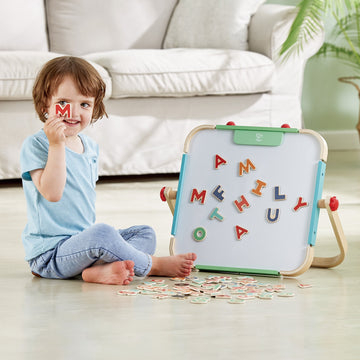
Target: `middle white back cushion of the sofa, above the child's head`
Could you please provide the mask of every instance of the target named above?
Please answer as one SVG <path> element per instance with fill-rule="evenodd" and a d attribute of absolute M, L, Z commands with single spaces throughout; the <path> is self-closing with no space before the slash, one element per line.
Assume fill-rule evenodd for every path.
<path fill-rule="evenodd" d="M 160 49 L 176 0 L 46 0 L 50 50 Z"/>

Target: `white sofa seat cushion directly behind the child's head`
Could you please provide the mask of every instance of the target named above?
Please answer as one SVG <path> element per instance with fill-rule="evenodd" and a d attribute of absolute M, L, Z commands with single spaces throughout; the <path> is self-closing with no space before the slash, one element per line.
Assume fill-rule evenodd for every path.
<path fill-rule="evenodd" d="M 61 56 L 50 52 L 3 51 L 0 53 L 0 100 L 30 100 L 35 78 L 49 60 Z M 111 93 L 111 79 L 101 66 L 92 63 Z"/>

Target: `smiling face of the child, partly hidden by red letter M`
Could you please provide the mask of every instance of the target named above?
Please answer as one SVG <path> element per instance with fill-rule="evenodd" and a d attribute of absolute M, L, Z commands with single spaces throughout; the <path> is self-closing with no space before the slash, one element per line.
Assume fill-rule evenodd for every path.
<path fill-rule="evenodd" d="M 73 79 L 66 76 L 60 83 L 57 91 L 50 98 L 48 107 L 49 117 L 55 114 L 56 104 L 64 107 L 66 104 L 71 106 L 70 118 L 63 120 L 66 125 L 65 136 L 73 137 L 84 130 L 91 122 L 94 110 L 94 97 L 82 95 Z"/>

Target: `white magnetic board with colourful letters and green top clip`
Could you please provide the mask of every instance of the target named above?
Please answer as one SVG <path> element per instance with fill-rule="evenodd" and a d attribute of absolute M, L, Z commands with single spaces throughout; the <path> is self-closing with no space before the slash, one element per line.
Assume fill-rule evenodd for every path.
<path fill-rule="evenodd" d="M 251 131 L 250 145 L 234 142 L 235 133 Z M 223 126 L 191 137 L 175 253 L 195 252 L 197 265 L 216 267 L 292 271 L 303 264 L 315 241 L 325 163 L 318 136 L 289 131 Z M 262 145 L 268 134 L 280 136 L 279 144 Z"/>

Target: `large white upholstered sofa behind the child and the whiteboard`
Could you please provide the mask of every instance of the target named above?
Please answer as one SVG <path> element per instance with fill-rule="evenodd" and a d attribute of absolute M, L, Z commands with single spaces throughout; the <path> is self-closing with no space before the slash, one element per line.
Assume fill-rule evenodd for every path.
<path fill-rule="evenodd" d="M 84 57 L 107 84 L 109 118 L 87 130 L 100 175 L 174 173 L 200 124 L 300 128 L 323 42 L 283 62 L 294 8 L 262 0 L 2 0 L 0 13 L 0 179 L 20 177 L 21 144 L 42 127 L 34 78 L 55 56 Z"/>

